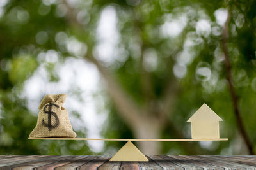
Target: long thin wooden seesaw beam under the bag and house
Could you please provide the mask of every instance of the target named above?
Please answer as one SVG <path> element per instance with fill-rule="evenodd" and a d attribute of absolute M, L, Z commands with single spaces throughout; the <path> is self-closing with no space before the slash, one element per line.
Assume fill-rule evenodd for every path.
<path fill-rule="evenodd" d="M 29 137 L 33 140 L 70 140 L 70 141 L 227 141 L 228 138 L 217 139 L 99 139 L 99 138 L 35 138 Z"/>

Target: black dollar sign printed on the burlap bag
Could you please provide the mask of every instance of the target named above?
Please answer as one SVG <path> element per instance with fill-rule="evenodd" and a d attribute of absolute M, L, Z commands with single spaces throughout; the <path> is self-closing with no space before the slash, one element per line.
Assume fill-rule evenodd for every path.
<path fill-rule="evenodd" d="M 57 114 L 54 111 L 52 111 L 52 106 L 56 106 L 57 108 L 59 108 L 59 106 L 57 104 L 54 104 L 54 103 L 46 104 L 44 106 L 44 113 L 48 114 L 48 124 L 45 123 L 44 119 L 42 120 L 42 124 L 45 127 L 48 127 L 49 131 L 51 131 L 53 128 L 58 127 L 58 125 L 59 125 L 59 118 L 57 117 Z M 46 110 L 46 108 L 48 108 L 48 111 Z M 54 125 L 52 125 L 52 116 L 55 118 L 55 124 Z"/>

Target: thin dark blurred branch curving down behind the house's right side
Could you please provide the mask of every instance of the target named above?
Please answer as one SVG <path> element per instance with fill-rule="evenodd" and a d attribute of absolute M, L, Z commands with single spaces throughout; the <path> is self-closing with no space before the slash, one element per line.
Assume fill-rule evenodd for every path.
<path fill-rule="evenodd" d="M 228 24 L 230 22 L 230 17 L 231 17 L 231 14 L 230 14 L 230 11 L 228 11 L 228 17 L 227 17 L 227 20 L 224 25 L 223 39 L 222 39 L 223 53 L 225 55 L 225 69 L 227 71 L 226 79 L 227 79 L 228 87 L 229 87 L 230 94 L 232 97 L 233 110 L 234 110 L 234 115 L 236 117 L 238 129 L 241 132 L 242 138 L 244 139 L 244 142 L 248 148 L 250 155 L 254 155 L 252 143 L 250 142 L 250 139 L 248 137 L 248 134 L 245 131 L 244 124 L 242 122 L 241 111 L 239 110 L 239 99 L 237 97 L 234 85 L 232 84 L 232 74 L 231 74 L 232 68 L 230 65 L 230 60 L 229 60 L 229 55 L 228 55 L 228 46 L 227 46 L 228 30 L 229 30 Z"/>

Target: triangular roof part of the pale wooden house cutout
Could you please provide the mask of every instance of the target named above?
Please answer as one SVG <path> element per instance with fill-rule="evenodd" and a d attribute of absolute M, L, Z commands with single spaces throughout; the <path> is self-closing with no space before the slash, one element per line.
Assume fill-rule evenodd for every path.
<path fill-rule="evenodd" d="M 222 119 L 213 111 L 207 104 L 203 104 L 187 122 L 209 120 L 209 121 L 222 121 Z"/>

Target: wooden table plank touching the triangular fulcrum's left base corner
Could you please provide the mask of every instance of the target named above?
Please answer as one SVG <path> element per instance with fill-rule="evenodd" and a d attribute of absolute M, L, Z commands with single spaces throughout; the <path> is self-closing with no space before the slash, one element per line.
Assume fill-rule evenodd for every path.
<path fill-rule="evenodd" d="M 97 159 L 93 159 L 90 162 L 86 162 L 86 164 L 84 164 L 83 166 L 77 167 L 77 169 L 80 169 L 80 170 L 97 169 L 108 160 L 109 160 L 109 157 L 100 156 Z"/>

